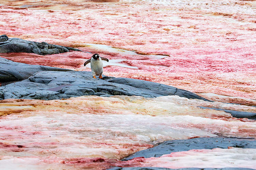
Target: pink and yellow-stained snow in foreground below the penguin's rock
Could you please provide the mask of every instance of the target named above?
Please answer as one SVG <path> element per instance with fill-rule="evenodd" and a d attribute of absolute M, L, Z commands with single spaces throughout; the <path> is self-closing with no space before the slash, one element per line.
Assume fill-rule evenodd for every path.
<path fill-rule="evenodd" d="M 135 158 L 127 162 L 120 159 L 165 140 L 215 137 L 216 134 L 256 138 L 255 121 L 233 118 L 223 111 L 201 109 L 198 105 L 240 111 L 256 109 L 178 96 L 1 100 L 0 164 L 7 166 L 13 162 L 14 169 L 23 167 L 22 162 L 32 169 L 158 167 L 167 158 Z M 196 151 L 191 152 L 194 154 Z M 198 160 L 219 154 L 209 152 L 210 155 L 199 155 Z M 248 153 L 248 160 L 241 165 L 248 163 L 245 167 L 251 167 L 254 160 L 249 157 L 255 154 L 253 149 L 235 149 L 221 154 L 223 157 L 227 154 L 228 160 L 232 160 L 233 155 L 243 155 L 244 152 Z M 197 152 L 193 154 L 191 160 L 197 159 Z M 162 167 L 180 166 L 182 159 L 175 157 L 177 162 L 167 160 Z M 217 167 L 209 163 L 209 166 Z"/>

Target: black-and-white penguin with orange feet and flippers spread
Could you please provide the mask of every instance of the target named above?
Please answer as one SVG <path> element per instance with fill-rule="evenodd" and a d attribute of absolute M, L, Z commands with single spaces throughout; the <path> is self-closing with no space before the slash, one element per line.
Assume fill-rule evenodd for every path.
<path fill-rule="evenodd" d="M 93 74 L 93 78 L 96 79 L 95 75 L 99 75 L 99 78 L 102 79 L 103 73 L 103 63 L 102 60 L 109 62 L 108 58 L 100 57 L 99 54 L 94 54 L 91 56 L 90 60 L 87 60 L 84 63 L 84 66 L 88 63 L 91 63 L 91 73 Z"/>

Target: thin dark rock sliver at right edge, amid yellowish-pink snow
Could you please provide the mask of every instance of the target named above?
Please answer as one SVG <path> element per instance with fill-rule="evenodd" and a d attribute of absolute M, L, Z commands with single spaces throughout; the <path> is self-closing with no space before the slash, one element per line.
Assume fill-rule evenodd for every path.
<path fill-rule="evenodd" d="M 200 108 L 209 108 L 209 109 L 214 109 L 217 111 L 224 111 L 226 113 L 230 113 L 233 117 L 236 118 L 248 118 L 248 119 L 253 119 L 256 120 L 256 113 L 253 112 L 240 112 L 240 111 L 232 111 L 228 109 L 221 109 L 221 108 L 213 108 L 213 107 L 203 107 L 203 106 L 198 106 Z"/>

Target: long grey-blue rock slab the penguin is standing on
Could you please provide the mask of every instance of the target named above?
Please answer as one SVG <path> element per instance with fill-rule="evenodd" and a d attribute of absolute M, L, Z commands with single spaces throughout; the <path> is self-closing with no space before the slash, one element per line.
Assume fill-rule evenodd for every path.
<path fill-rule="evenodd" d="M 28 66 L 26 65 L 26 67 Z M 41 66 L 38 67 L 41 68 Z M 42 69 L 55 68 L 42 67 Z M 53 100 L 85 95 L 103 97 L 112 95 L 136 95 L 148 98 L 178 95 L 180 97 L 207 101 L 192 92 L 159 83 L 106 76 L 103 76 L 104 80 L 101 80 L 94 79 L 91 72 L 88 71 L 68 71 L 66 69 L 63 71 L 41 71 L 33 74 L 24 81 L 2 86 L 0 87 L 0 100 L 9 98 Z M 11 72 L 11 78 L 18 77 L 19 80 L 28 76 L 26 72 L 26 75 L 20 76 L 21 73 L 19 70 L 16 70 L 16 72 L 15 70 L 11 70 Z M 8 77 L 8 81 L 11 81 L 11 78 Z"/>

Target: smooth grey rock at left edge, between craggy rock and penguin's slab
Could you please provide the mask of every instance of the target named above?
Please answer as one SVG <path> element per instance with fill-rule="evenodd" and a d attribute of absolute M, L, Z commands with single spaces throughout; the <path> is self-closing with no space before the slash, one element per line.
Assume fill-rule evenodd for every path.
<path fill-rule="evenodd" d="M 27 79 L 39 71 L 71 71 L 69 69 L 17 63 L 0 57 L 0 82 Z"/>

